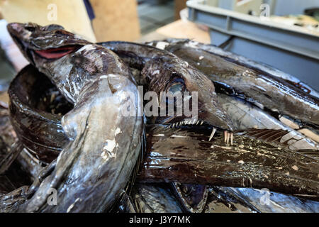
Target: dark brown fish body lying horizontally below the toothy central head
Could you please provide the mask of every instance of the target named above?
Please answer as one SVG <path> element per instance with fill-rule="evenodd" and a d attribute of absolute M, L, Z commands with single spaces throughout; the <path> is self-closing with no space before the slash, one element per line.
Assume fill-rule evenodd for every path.
<path fill-rule="evenodd" d="M 220 135 L 209 142 L 209 131 L 203 129 L 155 128 L 148 131 L 140 182 L 268 188 L 318 200 L 318 152 L 286 150 L 279 141 L 287 132 L 239 133 L 234 145 L 226 147 Z"/>

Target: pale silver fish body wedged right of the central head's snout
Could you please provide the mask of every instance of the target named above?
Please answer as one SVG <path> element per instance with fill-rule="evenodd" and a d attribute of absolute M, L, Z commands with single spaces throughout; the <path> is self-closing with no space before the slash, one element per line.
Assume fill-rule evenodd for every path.
<path fill-rule="evenodd" d="M 314 140 L 307 138 L 299 131 L 293 130 L 273 116 L 270 116 L 262 109 L 253 106 L 247 101 L 238 99 L 225 94 L 218 94 L 218 102 L 227 112 L 233 121 L 237 130 L 245 130 L 247 128 L 257 129 L 281 129 L 289 131 L 287 135 L 281 138 L 281 143 L 289 142 L 289 149 L 302 150 L 313 149 L 319 150 L 319 145 Z M 293 140 L 291 140 L 293 139 Z"/>

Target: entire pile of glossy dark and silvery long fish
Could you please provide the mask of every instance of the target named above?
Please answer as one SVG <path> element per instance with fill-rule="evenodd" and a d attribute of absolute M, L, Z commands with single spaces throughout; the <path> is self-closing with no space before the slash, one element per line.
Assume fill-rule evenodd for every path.
<path fill-rule="evenodd" d="M 319 96 L 295 77 L 192 40 L 8 30 L 30 65 L 0 106 L 1 212 L 319 211 Z M 146 117 L 138 86 L 197 92 L 196 118 Z"/>

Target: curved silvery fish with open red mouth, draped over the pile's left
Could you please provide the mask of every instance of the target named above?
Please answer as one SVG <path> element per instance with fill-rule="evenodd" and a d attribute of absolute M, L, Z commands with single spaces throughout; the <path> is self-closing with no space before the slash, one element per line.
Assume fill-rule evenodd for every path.
<path fill-rule="evenodd" d="M 70 142 L 16 210 L 109 209 L 130 181 L 142 145 L 142 100 L 130 70 L 110 50 L 60 26 L 10 23 L 8 30 L 28 60 L 74 104 L 62 118 Z M 47 203 L 52 190 L 55 206 Z"/>

